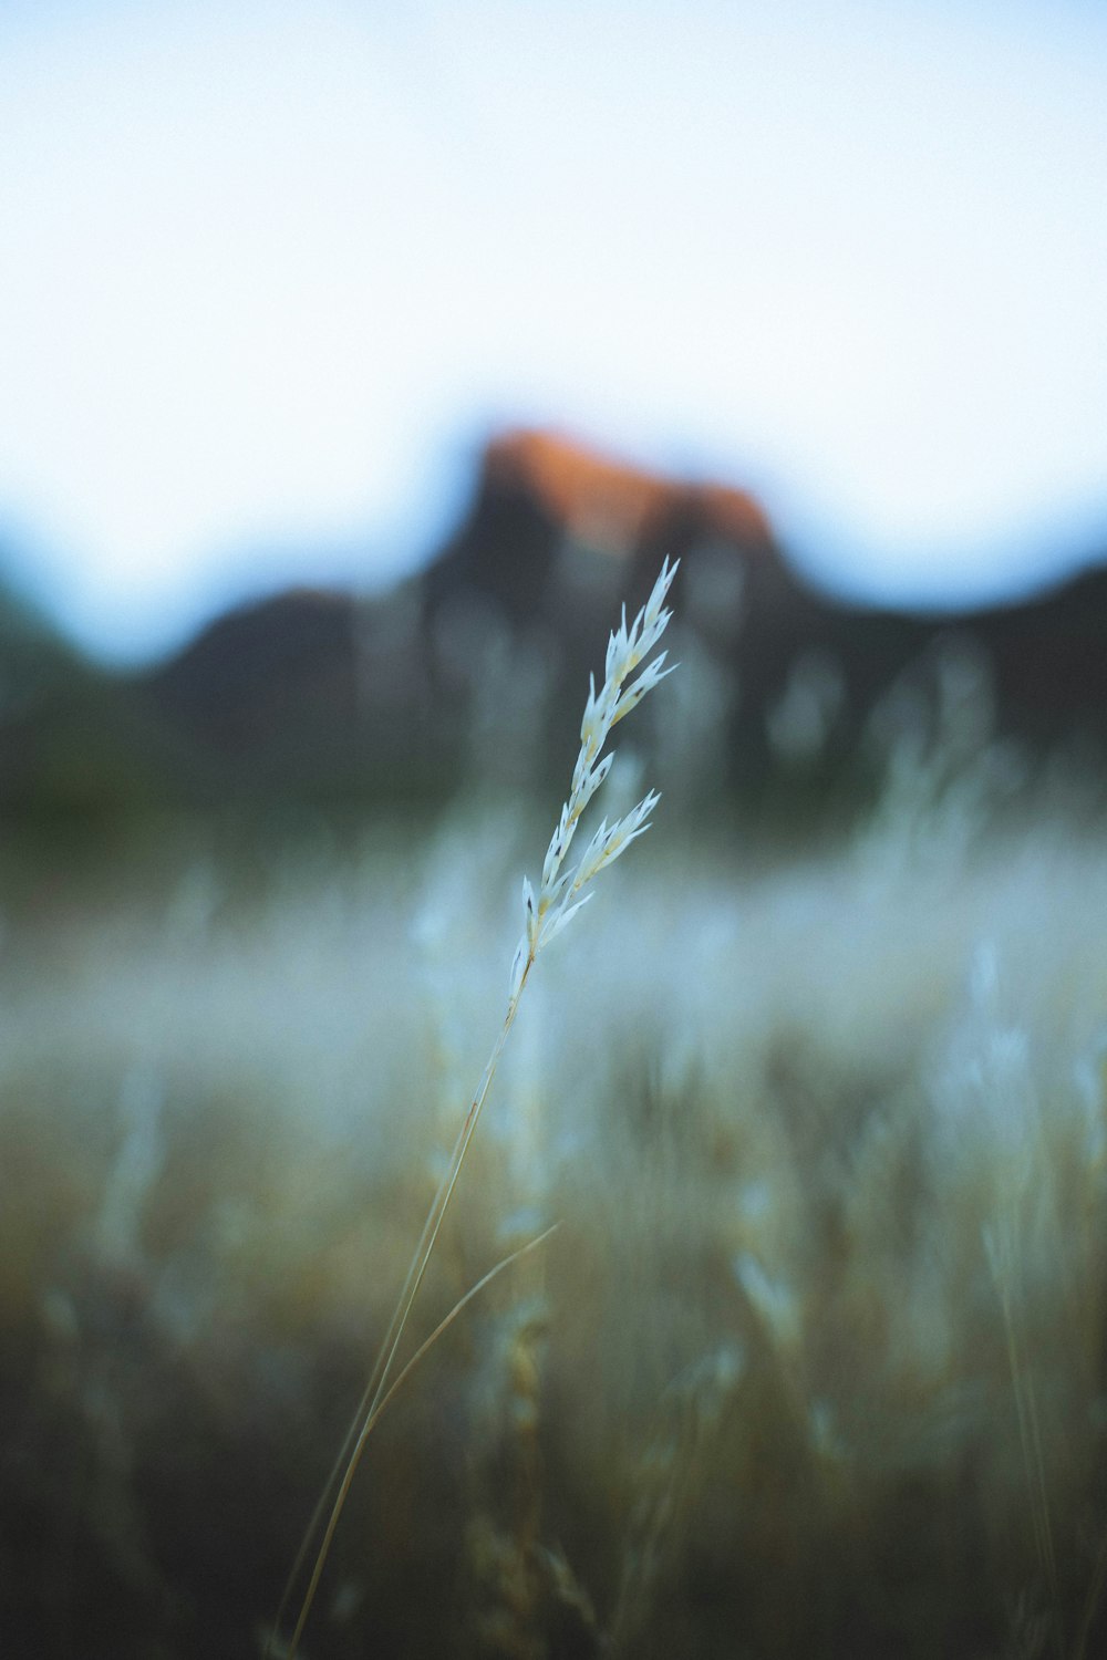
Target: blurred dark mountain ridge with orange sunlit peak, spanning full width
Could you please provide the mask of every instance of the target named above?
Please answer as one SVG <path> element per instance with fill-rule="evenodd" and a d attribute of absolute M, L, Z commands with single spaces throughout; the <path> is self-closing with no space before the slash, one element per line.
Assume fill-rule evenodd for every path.
<path fill-rule="evenodd" d="M 684 667 L 642 727 L 684 802 L 848 812 L 905 757 L 934 777 L 984 759 L 1011 790 L 1044 767 L 1107 779 L 1107 568 L 956 618 L 858 609 L 788 566 L 744 491 L 514 432 L 385 598 L 290 591 L 134 676 L 2 609 L 0 810 L 548 788 L 612 608 L 637 608 L 666 554 Z"/>

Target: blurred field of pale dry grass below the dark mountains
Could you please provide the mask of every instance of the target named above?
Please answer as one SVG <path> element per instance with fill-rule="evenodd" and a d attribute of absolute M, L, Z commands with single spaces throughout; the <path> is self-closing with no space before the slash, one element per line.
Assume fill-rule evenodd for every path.
<path fill-rule="evenodd" d="M 896 742 L 823 838 L 644 774 L 408 1350 L 558 1232 L 382 1418 L 307 1660 L 1104 1652 L 1102 823 Z M 556 805 L 8 850 L 5 1657 L 264 1652 Z"/>

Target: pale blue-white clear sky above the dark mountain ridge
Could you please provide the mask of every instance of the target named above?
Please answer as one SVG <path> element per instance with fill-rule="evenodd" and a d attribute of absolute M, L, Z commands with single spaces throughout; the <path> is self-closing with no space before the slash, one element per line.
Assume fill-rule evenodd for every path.
<path fill-rule="evenodd" d="M 0 0 L 0 559 L 138 661 L 549 423 L 818 579 L 1107 551 L 1097 0 Z"/>

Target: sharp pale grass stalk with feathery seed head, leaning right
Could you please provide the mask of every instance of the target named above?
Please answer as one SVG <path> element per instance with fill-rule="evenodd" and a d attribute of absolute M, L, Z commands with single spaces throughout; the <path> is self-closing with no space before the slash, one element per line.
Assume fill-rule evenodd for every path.
<path fill-rule="evenodd" d="M 519 999 L 523 996 L 523 989 L 526 988 L 529 973 L 538 961 L 539 953 L 553 940 L 556 940 L 569 920 L 581 910 L 583 905 L 588 903 L 588 900 L 591 900 L 591 891 L 586 893 L 584 890 L 589 888 L 599 872 L 607 865 L 612 865 L 616 858 L 626 853 L 632 842 L 649 830 L 651 815 L 661 800 L 661 795 L 656 790 L 649 790 L 622 818 L 616 818 L 611 825 L 606 818 L 601 820 L 599 828 L 594 832 L 576 865 L 571 865 L 568 870 L 564 868 L 581 815 L 611 770 L 614 752 L 609 750 L 604 754 L 604 749 L 612 727 L 617 725 L 619 720 L 626 719 L 626 715 L 629 715 L 631 710 L 641 704 L 642 697 L 664 681 L 667 674 L 672 674 L 674 666 L 666 667 L 667 652 L 662 651 L 641 669 L 637 677 L 634 677 L 636 671 L 641 664 L 644 664 L 646 657 L 649 657 L 654 646 L 659 642 L 672 616 L 672 613 L 666 609 L 666 596 L 672 584 L 672 578 L 677 573 L 679 563 L 679 559 L 675 564 L 669 564 L 669 559 L 664 561 L 649 599 L 629 626 L 626 619 L 626 606 L 622 608 L 619 627 L 612 631 L 607 641 L 604 681 L 599 692 L 596 691 L 596 677 L 589 677 L 588 702 L 581 719 L 581 747 L 576 757 L 576 765 L 573 767 L 573 782 L 569 785 L 569 795 L 561 807 L 558 827 L 549 840 L 549 847 L 546 848 L 538 893 L 534 893 L 529 876 L 523 878 L 524 928 L 511 963 L 508 1009 L 503 1026 L 500 1028 L 500 1034 L 491 1047 L 491 1054 L 488 1056 L 485 1071 L 481 1072 L 476 1092 L 470 1101 L 468 1112 L 461 1129 L 458 1130 L 458 1139 L 453 1144 L 446 1172 L 427 1213 L 427 1222 L 423 1223 L 423 1232 L 418 1245 L 415 1247 L 415 1255 L 412 1257 L 412 1265 L 392 1315 L 388 1331 L 385 1333 L 385 1341 L 380 1348 L 373 1374 L 368 1381 L 365 1394 L 362 1396 L 350 1433 L 347 1434 L 339 1461 L 324 1491 L 324 1497 L 320 1499 L 315 1516 L 307 1529 L 307 1537 L 292 1567 L 292 1574 L 289 1575 L 289 1585 L 285 1587 L 280 1609 L 277 1610 L 276 1627 L 267 1653 L 276 1653 L 279 1650 L 277 1633 L 292 1584 L 295 1582 L 307 1557 L 309 1540 L 315 1536 L 317 1526 L 322 1521 L 327 1494 L 337 1481 L 339 1491 L 332 1504 L 330 1516 L 327 1517 L 322 1544 L 312 1565 L 300 1612 L 292 1630 L 289 1647 L 287 1650 L 282 1650 L 285 1660 L 295 1660 L 299 1642 L 304 1633 L 312 1602 L 315 1600 L 319 1580 L 322 1577 L 342 1507 L 350 1491 L 354 1472 L 360 1462 L 362 1452 L 365 1451 L 368 1434 L 380 1418 L 385 1401 L 392 1398 L 392 1393 L 397 1388 L 398 1379 L 392 1379 L 397 1351 L 403 1340 L 408 1316 L 433 1255 L 435 1242 L 450 1205 L 450 1199 L 453 1197 L 453 1189 L 456 1187 L 461 1174 L 465 1154 L 468 1152 L 473 1132 L 476 1130 L 481 1107 L 485 1106 L 485 1099 L 488 1097 L 508 1034 L 514 1024 L 514 1016 L 518 1013 Z M 420 1355 L 427 1346 L 428 1345 L 423 1345 Z M 405 1373 L 407 1370 L 408 1368 L 405 1368 Z M 405 1373 L 402 1373 L 402 1376 Z"/>

